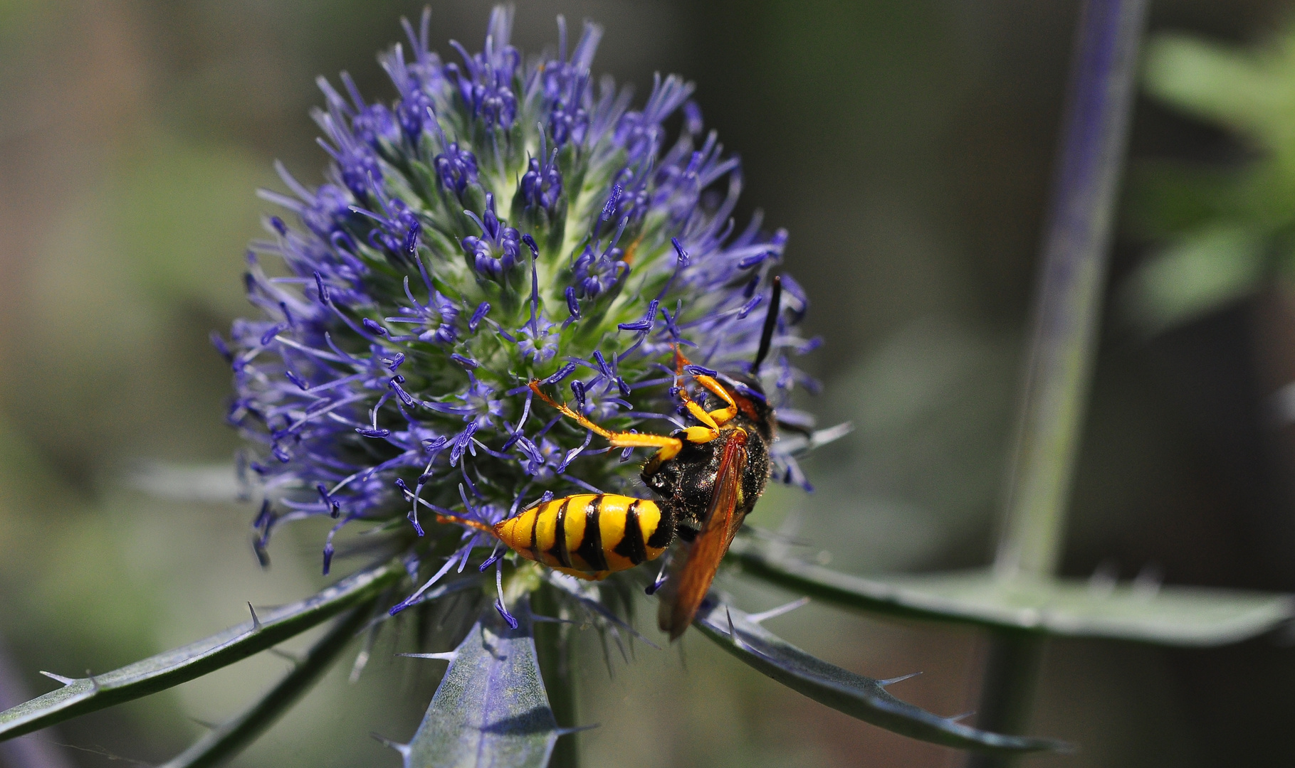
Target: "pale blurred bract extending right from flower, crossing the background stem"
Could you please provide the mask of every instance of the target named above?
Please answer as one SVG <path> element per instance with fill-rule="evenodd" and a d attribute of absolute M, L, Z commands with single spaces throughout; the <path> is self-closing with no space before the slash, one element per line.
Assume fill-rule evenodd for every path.
<path fill-rule="evenodd" d="M 1295 596 L 1279 592 L 1008 581 L 985 570 L 862 578 L 761 552 L 741 539 L 730 553 L 752 575 L 850 608 L 1062 637 L 1213 646 L 1295 618 Z"/>

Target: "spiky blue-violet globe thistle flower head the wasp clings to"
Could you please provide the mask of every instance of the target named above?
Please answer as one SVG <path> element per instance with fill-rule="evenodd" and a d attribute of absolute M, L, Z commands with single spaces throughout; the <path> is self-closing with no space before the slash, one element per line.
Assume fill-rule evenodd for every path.
<path fill-rule="evenodd" d="M 636 480 L 632 450 L 536 407 L 530 380 L 611 429 L 660 431 L 682 425 L 675 345 L 707 368 L 751 367 L 786 233 L 759 215 L 736 229 L 739 164 L 702 136 L 693 84 L 658 76 L 633 110 L 628 88 L 594 87 L 597 26 L 569 53 L 559 19 L 557 53 L 526 58 L 510 28 L 496 9 L 479 53 L 452 44 L 458 61 L 443 62 L 427 17 L 417 34 L 405 23 L 408 52 L 381 57 L 391 102 L 346 74 L 341 91 L 320 79 L 326 181 L 311 189 L 280 165 L 294 197 L 263 193 L 297 224 L 271 217 L 253 243 L 260 317 L 236 322 L 229 344 L 229 421 L 256 446 L 267 499 L 259 552 L 285 521 L 332 517 L 328 570 L 344 525 L 405 516 L 392 529 L 416 560 L 466 559 L 491 542 L 425 525 L 420 507 L 491 524 L 544 495 Z M 664 122 L 680 111 L 672 137 Z M 264 257 L 282 268 L 263 270 Z M 786 410 L 812 387 L 790 357 L 813 343 L 795 332 L 804 293 L 782 284 L 760 378 Z M 773 464 L 808 487 L 794 458 Z"/>

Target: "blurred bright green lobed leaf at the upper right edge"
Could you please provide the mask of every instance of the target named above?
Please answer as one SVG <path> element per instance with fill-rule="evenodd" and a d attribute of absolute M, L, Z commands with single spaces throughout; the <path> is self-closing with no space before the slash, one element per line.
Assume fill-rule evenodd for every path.
<path fill-rule="evenodd" d="M 1295 27 L 1251 47 L 1162 34 L 1146 52 L 1147 91 L 1238 134 L 1263 154 L 1226 169 L 1156 164 L 1134 177 L 1129 212 L 1145 234 L 1175 238 L 1123 287 L 1146 334 L 1251 293 L 1295 224 Z"/>

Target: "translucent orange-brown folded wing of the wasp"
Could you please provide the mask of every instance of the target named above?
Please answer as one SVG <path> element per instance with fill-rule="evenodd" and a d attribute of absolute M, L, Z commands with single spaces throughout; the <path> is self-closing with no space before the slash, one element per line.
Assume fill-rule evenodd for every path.
<path fill-rule="evenodd" d="M 742 469 L 746 467 L 746 432 L 734 429 L 724 443 L 720 469 L 715 476 L 715 491 L 701 533 L 693 539 L 682 568 L 671 574 L 668 591 L 663 595 L 657 621 L 662 631 L 676 640 L 693 623 L 697 609 L 715 581 L 720 560 L 728 553 L 742 520 L 737 517 L 737 503 L 742 490 Z"/>

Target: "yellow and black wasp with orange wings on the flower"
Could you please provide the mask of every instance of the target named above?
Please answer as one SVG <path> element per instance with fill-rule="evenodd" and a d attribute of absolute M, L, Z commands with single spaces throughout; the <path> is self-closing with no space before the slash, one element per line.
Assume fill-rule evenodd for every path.
<path fill-rule="evenodd" d="M 540 400 L 614 447 L 657 449 L 640 473 L 655 499 L 576 494 L 537 502 L 493 526 L 474 528 L 493 534 L 527 560 L 589 581 L 655 560 L 676 538 L 681 539 L 685 549 L 682 559 L 670 565 L 658 623 L 671 640 L 682 635 L 769 478 L 769 446 L 777 421 L 756 375 L 769 352 L 781 290 L 774 277 L 750 374 L 720 375 L 694 366 L 676 345 L 675 392 L 697 421 L 693 427 L 671 434 L 613 432 L 554 401 L 537 380 L 530 383 Z M 706 410 L 692 400 L 685 376 L 714 396 L 720 407 Z"/>

